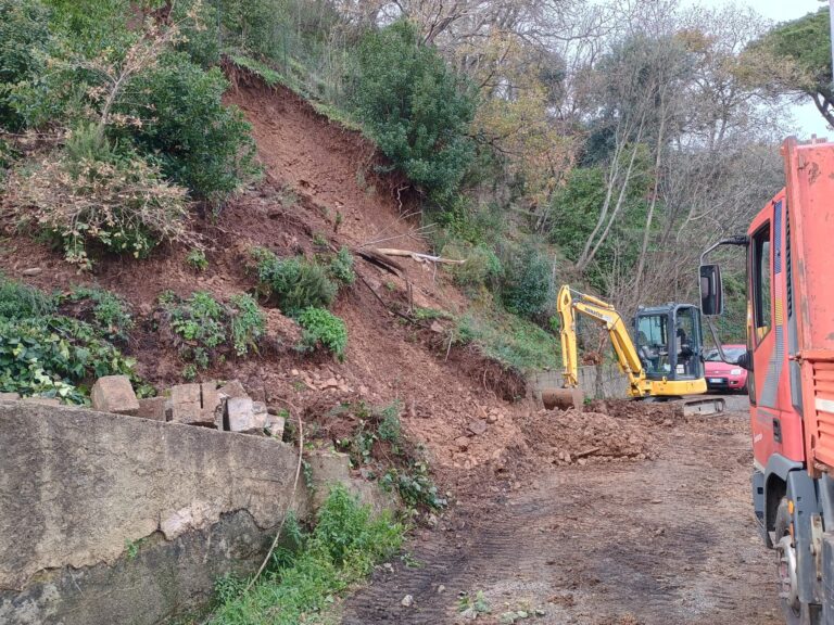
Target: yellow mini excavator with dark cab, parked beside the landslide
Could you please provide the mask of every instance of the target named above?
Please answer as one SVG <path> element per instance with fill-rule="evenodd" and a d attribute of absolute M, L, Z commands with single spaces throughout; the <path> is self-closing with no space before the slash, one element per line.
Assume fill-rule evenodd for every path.
<path fill-rule="evenodd" d="M 666 304 L 639 308 L 634 340 L 617 309 L 602 299 L 565 284 L 556 310 L 561 321 L 561 359 L 565 367 L 561 388 L 542 392 L 545 407 L 580 408 L 577 354 L 577 314 L 584 315 L 608 331 L 620 369 L 629 381 L 628 395 L 639 399 L 683 399 L 707 392 L 704 379 L 700 310 L 690 304 Z M 686 398 L 684 413 L 722 412 L 721 398 Z"/>

